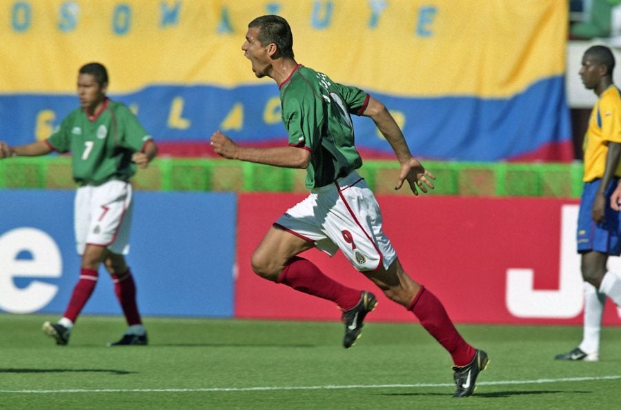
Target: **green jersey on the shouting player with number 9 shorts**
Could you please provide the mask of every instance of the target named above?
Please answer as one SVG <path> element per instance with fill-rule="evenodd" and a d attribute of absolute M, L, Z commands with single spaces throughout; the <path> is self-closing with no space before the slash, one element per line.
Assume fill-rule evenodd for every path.
<path fill-rule="evenodd" d="M 297 66 L 280 85 L 282 121 L 290 146 L 311 151 L 306 188 L 331 184 L 362 166 L 354 145 L 351 114 L 362 115 L 368 94 Z"/>

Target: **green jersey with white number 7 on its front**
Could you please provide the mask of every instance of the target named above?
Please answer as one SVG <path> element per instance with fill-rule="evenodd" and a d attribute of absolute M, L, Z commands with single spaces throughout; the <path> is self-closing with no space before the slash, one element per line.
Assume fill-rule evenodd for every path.
<path fill-rule="evenodd" d="M 124 104 L 106 99 L 103 109 L 88 117 L 73 110 L 47 139 L 59 153 L 71 152 L 73 179 L 79 184 L 128 180 L 136 173 L 132 154 L 151 139 Z"/>

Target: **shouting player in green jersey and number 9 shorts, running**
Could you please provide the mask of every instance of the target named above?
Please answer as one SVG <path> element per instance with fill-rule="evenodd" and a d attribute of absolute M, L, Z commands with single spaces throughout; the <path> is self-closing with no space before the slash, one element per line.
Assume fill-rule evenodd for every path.
<path fill-rule="evenodd" d="M 343 311 L 343 344 L 348 348 L 359 337 L 366 314 L 375 308 L 375 296 L 335 282 L 298 256 L 313 247 L 329 255 L 340 249 L 355 269 L 411 311 L 449 351 L 455 365 L 454 396 L 471 396 L 487 355 L 464 341 L 440 300 L 404 271 L 382 230 L 375 196 L 356 171 L 362 159 L 354 145 L 351 114 L 371 117 L 391 144 L 401 164 L 395 189 L 407 181 L 415 195 L 419 189 L 426 193 L 435 177 L 412 157 L 399 126 L 380 101 L 297 64 L 293 35 L 282 17 L 251 21 L 242 50 L 257 77 L 270 77 L 279 86 L 288 146 L 242 147 L 219 131 L 213 133 L 211 145 L 228 159 L 306 168 L 306 187 L 311 190 L 266 233 L 253 253 L 253 270 L 267 280 L 335 302 Z"/>

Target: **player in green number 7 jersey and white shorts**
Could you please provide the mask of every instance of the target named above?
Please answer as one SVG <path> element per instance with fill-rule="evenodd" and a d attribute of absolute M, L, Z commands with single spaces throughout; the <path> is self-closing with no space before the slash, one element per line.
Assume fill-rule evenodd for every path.
<path fill-rule="evenodd" d="M 108 72 L 99 63 L 79 69 L 80 107 L 44 141 L 8 146 L 0 141 L 0 159 L 34 157 L 70 151 L 75 196 L 75 237 L 81 255 L 80 275 L 63 317 L 43 323 L 43 331 L 57 344 L 67 344 L 75 321 L 95 290 L 98 269 L 106 266 L 128 329 L 109 346 L 147 344 L 147 333 L 136 303 L 136 286 L 124 255 L 129 252 L 132 216 L 130 177 L 146 168 L 157 146 L 131 111 L 106 97 Z"/>

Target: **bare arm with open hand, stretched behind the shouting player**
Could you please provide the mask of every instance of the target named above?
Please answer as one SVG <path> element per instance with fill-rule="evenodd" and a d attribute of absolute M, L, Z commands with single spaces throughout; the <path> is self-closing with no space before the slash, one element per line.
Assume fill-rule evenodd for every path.
<path fill-rule="evenodd" d="M 377 129 L 384 135 L 388 144 L 391 144 L 401 164 L 401 171 L 395 189 L 400 189 L 406 181 L 414 195 L 418 195 L 419 189 L 424 193 L 427 192 L 427 188 L 433 189 L 434 186 L 431 179 L 435 179 L 435 175 L 426 170 L 420 161 L 412 157 L 401 128 L 399 128 L 391 113 L 388 112 L 386 106 L 377 101 L 377 99 L 369 97 L 368 105 L 363 115 L 373 119 Z"/>

